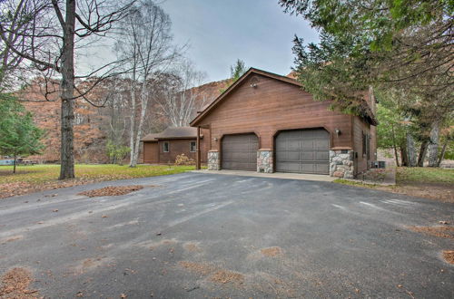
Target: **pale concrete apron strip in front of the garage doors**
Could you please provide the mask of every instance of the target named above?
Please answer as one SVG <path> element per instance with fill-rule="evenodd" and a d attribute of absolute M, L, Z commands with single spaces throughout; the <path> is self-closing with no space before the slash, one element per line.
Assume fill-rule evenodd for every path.
<path fill-rule="evenodd" d="M 190 172 L 195 173 L 204 173 L 204 174 L 221 174 L 221 175 L 232 175 L 232 176 L 242 176 L 242 177 L 256 177 L 256 178 L 283 178 L 283 179 L 301 179 L 301 180 L 313 180 L 313 181 L 323 181 L 331 182 L 336 178 L 330 177 L 328 175 L 315 175 L 315 174 L 301 174 L 301 173 L 283 173 L 283 172 L 273 172 L 273 173 L 261 173 L 254 171 L 244 171 L 244 170 L 191 170 Z"/>

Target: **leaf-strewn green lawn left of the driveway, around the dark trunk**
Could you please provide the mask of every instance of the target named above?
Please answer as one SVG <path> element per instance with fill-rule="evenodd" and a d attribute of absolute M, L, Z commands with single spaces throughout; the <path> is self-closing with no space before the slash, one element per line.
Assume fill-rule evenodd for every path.
<path fill-rule="evenodd" d="M 77 164 L 75 165 L 76 178 L 60 181 L 58 180 L 59 165 L 19 166 L 15 174 L 12 166 L 0 166 L 0 198 L 104 180 L 171 175 L 192 169 L 194 166 L 138 165 L 135 168 L 129 168 L 119 165 Z"/>

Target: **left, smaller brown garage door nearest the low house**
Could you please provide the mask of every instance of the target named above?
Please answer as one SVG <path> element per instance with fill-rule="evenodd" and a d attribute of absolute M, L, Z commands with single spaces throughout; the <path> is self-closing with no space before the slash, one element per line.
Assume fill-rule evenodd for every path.
<path fill-rule="evenodd" d="M 257 171 L 259 140 L 255 134 L 226 135 L 222 138 L 222 169 Z"/>

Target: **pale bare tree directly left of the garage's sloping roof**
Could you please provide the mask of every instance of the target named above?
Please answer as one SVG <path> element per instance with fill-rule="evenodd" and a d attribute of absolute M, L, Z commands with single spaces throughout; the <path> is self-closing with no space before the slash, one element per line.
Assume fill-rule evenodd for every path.
<path fill-rule="evenodd" d="M 173 127 L 189 125 L 196 111 L 204 106 L 206 99 L 195 88 L 201 85 L 203 78 L 204 73 L 196 71 L 191 62 L 183 61 L 162 83 L 156 100 L 160 113 Z"/>

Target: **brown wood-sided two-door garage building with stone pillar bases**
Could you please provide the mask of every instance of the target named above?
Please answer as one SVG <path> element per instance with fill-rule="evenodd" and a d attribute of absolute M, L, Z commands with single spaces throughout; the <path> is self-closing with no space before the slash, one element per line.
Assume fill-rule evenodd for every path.
<path fill-rule="evenodd" d="M 352 178 L 376 159 L 375 100 L 366 93 L 364 113 L 349 115 L 314 101 L 294 79 L 252 68 L 191 126 L 206 136 L 208 169 Z"/>

